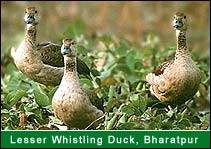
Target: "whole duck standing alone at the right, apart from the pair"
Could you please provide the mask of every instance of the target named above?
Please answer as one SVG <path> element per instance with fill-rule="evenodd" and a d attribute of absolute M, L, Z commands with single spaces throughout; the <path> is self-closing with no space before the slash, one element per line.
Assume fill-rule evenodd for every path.
<path fill-rule="evenodd" d="M 184 13 L 177 12 L 173 19 L 176 30 L 176 53 L 174 59 L 164 62 L 158 68 L 146 75 L 150 92 L 161 102 L 181 105 L 191 99 L 198 91 L 201 74 L 191 58 L 186 43 L 188 29 Z"/>

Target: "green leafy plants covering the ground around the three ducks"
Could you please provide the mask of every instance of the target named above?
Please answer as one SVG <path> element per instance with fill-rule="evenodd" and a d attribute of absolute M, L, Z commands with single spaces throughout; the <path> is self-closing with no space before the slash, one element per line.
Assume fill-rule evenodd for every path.
<path fill-rule="evenodd" d="M 79 24 L 78 24 L 79 23 Z M 90 67 L 92 80 L 80 79 L 83 87 L 104 99 L 103 130 L 206 130 L 210 129 L 209 56 L 193 59 L 201 69 L 202 81 L 192 100 L 181 106 L 160 103 L 147 86 L 147 73 L 172 57 L 175 45 L 162 47 L 159 37 L 148 34 L 144 46 L 113 35 L 88 36 L 80 21 L 67 26 L 61 35 L 76 39 L 79 57 Z M 8 48 L 10 49 L 10 48 Z M 7 50 L 9 51 L 9 50 Z M 51 100 L 57 87 L 28 79 L 4 53 L 1 57 L 1 129 L 64 130 L 54 117 Z"/>

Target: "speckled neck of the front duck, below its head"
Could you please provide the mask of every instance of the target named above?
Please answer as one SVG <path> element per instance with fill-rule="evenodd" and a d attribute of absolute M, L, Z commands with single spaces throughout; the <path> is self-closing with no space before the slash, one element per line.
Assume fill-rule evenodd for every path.
<path fill-rule="evenodd" d="M 65 68 L 64 68 L 64 75 L 71 76 L 71 78 L 78 78 L 77 68 L 76 68 L 76 57 L 68 57 L 64 56 L 65 61 Z"/>

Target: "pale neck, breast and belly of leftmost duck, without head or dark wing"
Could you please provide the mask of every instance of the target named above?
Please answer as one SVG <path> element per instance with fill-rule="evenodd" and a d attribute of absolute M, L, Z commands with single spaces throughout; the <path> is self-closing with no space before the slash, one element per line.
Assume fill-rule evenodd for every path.
<path fill-rule="evenodd" d="M 63 67 L 54 67 L 44 64 L 41 53 L 33 44 L 35 26 L 27 27 L 24 41 L 19 47 L 12 51 L 12 56 L 17 68 L 28 78 L 50 86 L 56 86 L 61 82 Z"/>

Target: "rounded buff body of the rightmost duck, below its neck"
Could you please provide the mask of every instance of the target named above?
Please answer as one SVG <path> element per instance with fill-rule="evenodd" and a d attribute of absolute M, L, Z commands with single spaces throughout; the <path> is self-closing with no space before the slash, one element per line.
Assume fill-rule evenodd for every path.
<path fill-rule="evenodd" d="M 152 94 L 160 101 L 180 104 L 198 91 L 200 71 L 190 57 L 184 57 L 175 60 L 161 75 L 148 74 L 147 81 Z"/>

